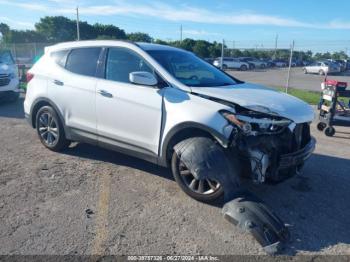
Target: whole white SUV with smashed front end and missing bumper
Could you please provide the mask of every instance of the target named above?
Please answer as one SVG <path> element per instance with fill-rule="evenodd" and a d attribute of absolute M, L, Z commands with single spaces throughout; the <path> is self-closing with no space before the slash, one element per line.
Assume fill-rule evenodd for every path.
<path fill-rule="evenodd" d="M 309 105 L 169 46 L 62 43 L 46 48 L 27 78 L 25 114 L 44 146 L 87 142 L 171 166 L 201 201 L 218 198 L 223 186 L 184 165 L 174 151 L 184 140 L 212 141 L 257 183 L 299 172 L 315 147 Z"/>

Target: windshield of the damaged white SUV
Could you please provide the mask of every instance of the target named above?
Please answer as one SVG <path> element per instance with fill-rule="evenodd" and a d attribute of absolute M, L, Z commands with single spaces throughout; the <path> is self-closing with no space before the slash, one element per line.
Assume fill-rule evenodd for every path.
<path fill-rule="evenodd" d="M 190 52 L 148 50 L 147 53 L 187 86 L 214 87 L 237 84 L 234 79 Z"/>

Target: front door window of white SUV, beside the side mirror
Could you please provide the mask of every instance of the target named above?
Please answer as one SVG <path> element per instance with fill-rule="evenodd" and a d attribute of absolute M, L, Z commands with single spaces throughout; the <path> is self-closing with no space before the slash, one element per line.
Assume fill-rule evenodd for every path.
<path fill-rule="evenodd" d="M 139 55 L 125 48 L 111 48 L 106 63 L 106 79 L 129 83 L 131 72 L 153 73 L 150 66 Z"/>

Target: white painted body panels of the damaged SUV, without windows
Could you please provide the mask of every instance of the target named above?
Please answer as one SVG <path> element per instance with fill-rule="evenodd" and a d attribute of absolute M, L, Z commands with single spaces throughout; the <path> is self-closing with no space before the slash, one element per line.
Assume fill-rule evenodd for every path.
<path fill-rule="evenodd" d="M 52 52 L 58 50 L 96 46 L 123 47 L 137 53 L 169 86 L 158 89 L 77 75 L 58 66 L 50 57 Z M 173 49 L 122 41 L 71 42 L 46 48 L 44 57 L 29 71 L 34 78 L 27 87 L 24 103 L 26 115 L 31 116 L 36 101 L 47 98 L 55 104 L 68 129 L 74 129 L 76 133 L 99 143 L 124 149 L 137 147 L 142 153 L 152 153 L 158 157 L 162 157 L 167 135 L 182 123 L 196 123 L 229 138 L 232 127 L 219 110 L 234 112 L 234 108 L 193 92 L 241 106 L 265 107 L 272 114 L 286 117 L 295 123 L 313 120 L 312 109 L 304 102 L 257 85 L 239 84 L 213 88 L 184 85 L 144 48 Z M 57 85 L 56 80 L 63 85 Z M 103 95 L 102 91 L 108 96 Z"/>

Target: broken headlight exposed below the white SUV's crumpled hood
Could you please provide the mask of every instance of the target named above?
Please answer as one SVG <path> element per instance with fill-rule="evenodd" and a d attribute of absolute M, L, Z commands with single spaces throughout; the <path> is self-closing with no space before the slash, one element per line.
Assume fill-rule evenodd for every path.
<path fill-rule="evenodd" d="M 234 114 L 223 110 L 220 113 L 227 121 L 238 127 L 246 135 L 279 133 L 292 123 L 288 119 L 254 111 L 243 111 Z"/>

